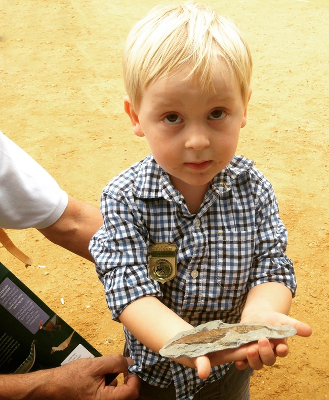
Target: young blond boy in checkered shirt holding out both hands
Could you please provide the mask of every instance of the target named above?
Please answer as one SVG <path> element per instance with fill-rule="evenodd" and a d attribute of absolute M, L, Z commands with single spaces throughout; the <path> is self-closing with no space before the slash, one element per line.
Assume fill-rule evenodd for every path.
<path fill-rule="evenodd" d="M 129 34 L 125 110 L 152 154 L 104 189 L 90 249 L 141 399 L 247 399 L 252 368 L 287 354 L 286 341 L 265 338 L 197 358 L 158 354 L 198 324 L 287 323 L 311 334 L 286 316 L 296 282 L 272 187 L 235 156 L 251 72 L 235 25 L 203 5 L 156 8 Z"/>

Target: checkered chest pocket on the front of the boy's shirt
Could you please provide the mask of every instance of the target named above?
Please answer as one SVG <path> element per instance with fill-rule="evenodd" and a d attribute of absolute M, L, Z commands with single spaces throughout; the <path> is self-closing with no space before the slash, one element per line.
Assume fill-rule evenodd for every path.
<path fill-rule="evenodd" d="M 216 278 L 224 290 L 243 290 L 254 257 L 256 228 L 217 232 Z"/>

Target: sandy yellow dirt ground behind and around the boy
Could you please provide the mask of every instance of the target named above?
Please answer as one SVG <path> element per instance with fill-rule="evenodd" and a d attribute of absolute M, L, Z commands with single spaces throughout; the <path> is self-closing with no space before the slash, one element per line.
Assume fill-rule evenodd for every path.
<path fill-rule="evenodd" d="M 0 129 L 69 194 L 95 205 L 112 176 L 149 153 L 122 109 L 120 57 L 133 23 L 156 3 L 0 0 Z M 291 315 L 313 327 L 310 338 L 290 340 L 289 356 L 255 372 L 252 399 L 322 400 L 329 396 L 329 2 L 208 4 L 236 21 L 253 53 L 237 153 L 256 160 L 274 186 L 298 280 Z M 25 269 L 4 248 L 1 261 L 101 353 L 121 352 L 121 325 L 111 321 L 93 264 L 33 229 L 8 233 L 33 265 Z"/>

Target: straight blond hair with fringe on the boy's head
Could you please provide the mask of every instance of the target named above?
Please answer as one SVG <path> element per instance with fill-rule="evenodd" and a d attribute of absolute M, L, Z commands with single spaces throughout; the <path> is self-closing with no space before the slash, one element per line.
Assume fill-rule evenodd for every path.
<path fill-rule="evenodd" d="M 155 79 L 189 67 L 188 78 L 212 87 L 215 67 L 224 59 L 248 102 L 252 57 L 235 24 L 198 3 L 155 7 L 131 30 L 123 54 L 124 81 L 138 106 L 143 89 Z"/>

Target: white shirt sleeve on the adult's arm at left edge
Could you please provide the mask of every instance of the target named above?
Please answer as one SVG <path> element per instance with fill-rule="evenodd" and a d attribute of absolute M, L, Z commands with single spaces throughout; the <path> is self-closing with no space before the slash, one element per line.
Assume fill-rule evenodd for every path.
<path fill-rule="evenodd" d="M 0 132 L 0 228 L 47 228 L 67 203 L 56 180 Z"/>

